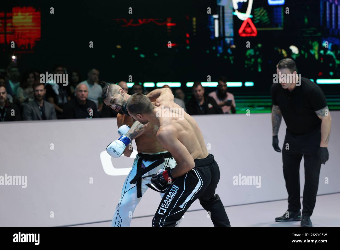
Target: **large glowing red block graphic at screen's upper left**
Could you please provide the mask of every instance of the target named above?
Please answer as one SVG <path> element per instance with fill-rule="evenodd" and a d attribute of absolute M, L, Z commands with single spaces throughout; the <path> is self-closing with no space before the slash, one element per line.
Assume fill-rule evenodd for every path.
<path fill-rule="evenodd" d="M 4 44 L 6 39 L 8 45 L 15 42 L 18 50 L 15 52 L 32 52 L 40 38 L 40 11 L 33 7 L 13 7 L 12 13 L 0 12 L 0 44 Z"/>

